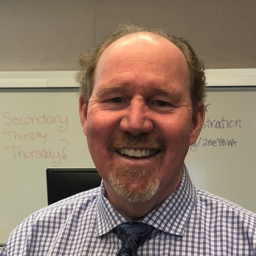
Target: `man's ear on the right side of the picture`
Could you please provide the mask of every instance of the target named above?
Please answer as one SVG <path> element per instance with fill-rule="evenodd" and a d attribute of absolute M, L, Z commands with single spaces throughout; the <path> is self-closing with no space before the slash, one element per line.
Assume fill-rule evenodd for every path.
<path fill-rule="evenodd" d="M 204 116 L 205 116 L 205 105 L 201 100 L 198 103 L 198 110 L 193 112 L 192 117 L 192 126 L 190 132 L 190 145 L 194 144 L 197 141 L 197 138 L 202 130 L 204 124 Z"/>

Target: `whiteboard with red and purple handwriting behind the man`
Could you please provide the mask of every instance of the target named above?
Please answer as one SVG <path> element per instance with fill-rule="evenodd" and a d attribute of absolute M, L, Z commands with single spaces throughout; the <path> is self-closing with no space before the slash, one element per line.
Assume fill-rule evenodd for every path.
<path fill-rule="evenodd" d="M 198 187 L 256 212 L 256 90 L 213 88 L 185 163 Z M 47 205 L 46 168 L 94 166 L 76 89 L 0 90 L 0 243 Z"/>

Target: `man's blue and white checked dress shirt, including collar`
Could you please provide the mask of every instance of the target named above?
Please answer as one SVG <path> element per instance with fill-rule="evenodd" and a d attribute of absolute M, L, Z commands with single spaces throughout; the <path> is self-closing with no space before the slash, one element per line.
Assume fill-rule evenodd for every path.
<path fill-rule="evenodd" d="M 104 197 L 104 187 L 59 201 L 25 219 L 0 255 L 116 255 L 121 241 L 111 230 L 126 222 Z M 256 215 L 196 189 L 183 168 L 175 193 L 141 222 L 161 231 L 138 255 L 256 255 Z"/>

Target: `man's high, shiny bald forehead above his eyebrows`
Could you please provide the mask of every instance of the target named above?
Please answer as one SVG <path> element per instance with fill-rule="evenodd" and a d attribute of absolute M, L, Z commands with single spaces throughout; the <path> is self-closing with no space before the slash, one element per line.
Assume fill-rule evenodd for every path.
<path fill-rule="evenodd" d="M 95 86 L 100 81 L 133 77 L 189 83 L 189 71 L 182 52 L 167 39 L 149 32 L 124 36 L 113 42 L 99 58 Z M 147 76 L 148 74 L 148 76 Z M 127 75 L 127 76 L 126 76 Z M 166 81 L 165 81 L 166 80 Z M 100 83 L 101 84 L 101 83 Z"/>

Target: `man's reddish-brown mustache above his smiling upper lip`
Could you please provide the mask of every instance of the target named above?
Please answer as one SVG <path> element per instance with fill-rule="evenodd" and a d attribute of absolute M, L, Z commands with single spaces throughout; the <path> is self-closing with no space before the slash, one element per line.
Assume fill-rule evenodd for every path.
<path fill-rule="evenodd" d="M 121 133 L 117 135 L 110 143 L 110 149 L 116 150 L 116 148 L 131 147 L 131 148 L 155 148 L 164 149 L 165 143 L 159 140 L 156 135 L 153 134 L 139 134 L 134 136 L 130 133 Z"/>

